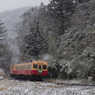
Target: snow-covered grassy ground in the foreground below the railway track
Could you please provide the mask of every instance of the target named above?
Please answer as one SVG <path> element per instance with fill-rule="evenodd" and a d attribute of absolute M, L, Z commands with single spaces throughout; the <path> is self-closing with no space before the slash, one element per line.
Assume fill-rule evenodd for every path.
<path fill-rule="evenodd" d="M 95 95 L 95 87 L 5 79 L 0 81 L 0 95 Z"/>

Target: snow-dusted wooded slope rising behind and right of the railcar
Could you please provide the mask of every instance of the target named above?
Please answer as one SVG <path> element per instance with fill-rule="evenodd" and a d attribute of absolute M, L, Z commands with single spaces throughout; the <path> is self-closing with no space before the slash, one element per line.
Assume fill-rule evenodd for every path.
<path fill-rule="evenodd" d="M 50 0 L 15 25 L 19 62 L 49 63 L 49 77 L 95 79 L 95 0 Z"/>

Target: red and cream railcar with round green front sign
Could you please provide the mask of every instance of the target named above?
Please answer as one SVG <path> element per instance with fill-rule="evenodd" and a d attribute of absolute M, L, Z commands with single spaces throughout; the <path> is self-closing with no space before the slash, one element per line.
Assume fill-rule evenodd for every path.
<path fill-rule="evenodd" d="M 20 63 L 10 65 L 11 77 L 31 77 L 42 79 L 43 76 L 47 76 L 47 65 L 45 61 L 32 61 L 30 63 Z"/>

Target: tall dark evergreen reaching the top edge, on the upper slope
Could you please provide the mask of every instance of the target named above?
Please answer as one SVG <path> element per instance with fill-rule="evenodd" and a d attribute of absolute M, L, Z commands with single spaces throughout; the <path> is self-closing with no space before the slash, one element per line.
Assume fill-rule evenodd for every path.
<path fill-rule="evenodd" d="M 60 24 L 57 27 L 59 34 L 63 34 L 67 28 L 69 18 L 74 13 L 74 6 L 73 0 L 51 0 L 51 3 L 47 6 L 49 14 L 56 18 Z"/>

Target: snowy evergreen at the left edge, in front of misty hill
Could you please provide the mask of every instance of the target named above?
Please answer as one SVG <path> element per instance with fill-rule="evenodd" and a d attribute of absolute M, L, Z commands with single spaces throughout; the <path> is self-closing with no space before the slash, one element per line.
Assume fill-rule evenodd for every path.
<path fill-rule="evenodd" d="M 9 65 L 11 64 L 11 53 L 5 38 L 6 30 L 0 20 L 0 67 L 9 70 Z"/>

